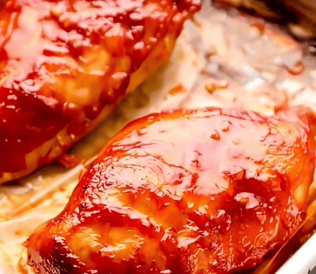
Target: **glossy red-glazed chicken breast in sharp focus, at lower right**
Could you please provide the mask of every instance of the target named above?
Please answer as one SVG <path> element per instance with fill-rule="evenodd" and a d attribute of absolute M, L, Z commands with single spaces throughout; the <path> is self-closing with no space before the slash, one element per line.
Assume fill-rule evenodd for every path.
<path fill-rule="evenodd" d="M 315 121 L 298 107 L 268 118 L 205 109 L 131 122 L 64 211 L 29 238 L 29 264 L 50 274 L 249 269 L 306 217 Z"/>

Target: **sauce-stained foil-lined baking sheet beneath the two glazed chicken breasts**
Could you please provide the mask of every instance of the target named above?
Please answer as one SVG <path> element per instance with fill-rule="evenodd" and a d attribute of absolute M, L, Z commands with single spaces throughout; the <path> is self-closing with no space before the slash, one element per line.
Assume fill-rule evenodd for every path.
<path fill-rule="evenodd" d="M 204 1 L 202 10 L 185 23 L 170 61 L 125 98 L 71 153 L 80 153 L 87 161 L 126 123 L 170 108 L 237 106 L 272 115 L 288 103 L 305 104 L 316 111 L 315 88 L 316 62 L 307 45 L 261 19 Z M 18 186 L 0 187 L 0 273 L 33 274 L 21 243 L 35 227 L 64 208 L 84 164 L 70 170 L 52 164 L 23 178 Z M 316 246 L 315 241 L 313 236 L 302 248 L 312 254 L 309 248 Z M 306 253 L 300 253 L 278 274 L 307 274 L 304 271 L 316 265 L 315 258 L 307 262 L 302 258 L 307 258 Z M 309 265 L 295 265 L 293 258 Z M 288 264 L 291 271 L 284 272 Z"/>

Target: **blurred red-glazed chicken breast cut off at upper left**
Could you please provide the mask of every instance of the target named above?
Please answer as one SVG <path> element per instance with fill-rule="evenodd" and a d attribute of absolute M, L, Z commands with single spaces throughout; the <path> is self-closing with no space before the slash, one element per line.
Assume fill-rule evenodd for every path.
<path fill-rule="evenodd" d="M 61 157 L 170 56 L 199 0 L 9 0 L 0 183 Z"/>

